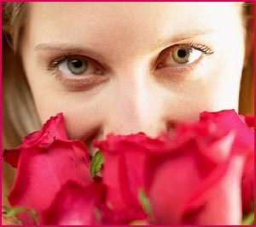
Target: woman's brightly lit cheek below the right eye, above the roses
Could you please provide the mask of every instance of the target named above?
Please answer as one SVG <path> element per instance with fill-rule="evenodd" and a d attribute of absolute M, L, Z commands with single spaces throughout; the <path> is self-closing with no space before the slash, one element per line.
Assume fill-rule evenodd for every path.
<path fill-rule="evenodd" d="M 202 111 L 237 110 L 240 77 L 239 71 L 232 69 L 210 69 L 201 74 L 203 79 L 184 82 L 165 101 L 166 119 L 196 121 Z"/>

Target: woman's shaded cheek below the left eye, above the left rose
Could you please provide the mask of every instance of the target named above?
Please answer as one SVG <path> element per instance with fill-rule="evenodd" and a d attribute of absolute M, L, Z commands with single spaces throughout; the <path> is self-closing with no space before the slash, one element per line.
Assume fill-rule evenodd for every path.
<path fill-rule="evenodd" d="M 99 133 L 97 130 L 102 125 L 103 113 L 108 112 L 102 105 L 104 99 L 101 95 L 90 97 L 84 92 L 68 93 L 49 87 L 40 89 L 40 83 L 32 84 L 32 94 L 42 123 L 62 112 L 69 139 L 86 141 Z"/>

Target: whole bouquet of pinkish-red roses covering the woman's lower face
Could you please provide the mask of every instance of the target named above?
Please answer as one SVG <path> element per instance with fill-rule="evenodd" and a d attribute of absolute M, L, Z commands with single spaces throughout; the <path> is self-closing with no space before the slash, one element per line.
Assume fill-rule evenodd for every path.
<path fill-rule="evenodd" d="M 62 114 L 3 159 L 17 168 L 3 218 L 15 224 L 253 224 L 254 118 L 201 113 L 172 133 L 109 134 L 89 156 Z M 12 218 L 12 219 L 10 219 Z"/>

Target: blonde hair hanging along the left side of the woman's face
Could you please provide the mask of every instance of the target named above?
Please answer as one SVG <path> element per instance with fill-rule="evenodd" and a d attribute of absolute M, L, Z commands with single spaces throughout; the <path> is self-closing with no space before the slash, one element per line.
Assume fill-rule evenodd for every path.
<path fill-rule="evenodd" d="M 25 14 L 25 3 L 3 3 L 2 149 L 19 145 L 26 134 L 40 128 L 17 49 Z M 5 162 L 2 165 L 2 190 L 8 192 L 14 181 L 15 169 Z M 8 202 L 4 200 L 3 203 Z"/>

